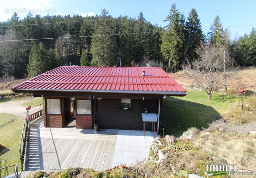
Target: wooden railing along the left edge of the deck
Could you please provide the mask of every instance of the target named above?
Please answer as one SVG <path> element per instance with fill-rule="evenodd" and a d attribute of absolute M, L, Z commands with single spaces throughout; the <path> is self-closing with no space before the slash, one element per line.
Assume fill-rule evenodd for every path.
<path fill-rule="evenodd" d="M 40 108 L 42 104 L 39 104 Z M 37 106 L 39 106 L 37 105 Z M 35 108 L 36 106 L 32 107 Z M 28 136 L 28 124 L 29 122 L 35 120 L 36 118 L 40 117 L 43 115 L 43 109 L 29 115 L 29 110 L 31 109 L 31 106 L 28 106 L 26 108 L 27 113 L 26 113 L 26 118 L 23 124 L 23 129 L 21 133 L 21 138 L 20 138 L 20 147 L 19 147 L 19 152 L 20 152 L 20 161 L 21 161 L 21 171 L 23 171 L 24 168 L 24 157 L 26 153 L 26 143 L 27 143 L 27 136 Z"/>

